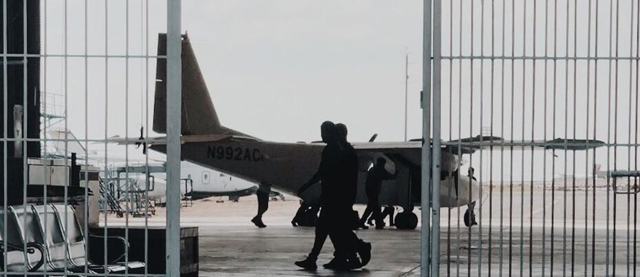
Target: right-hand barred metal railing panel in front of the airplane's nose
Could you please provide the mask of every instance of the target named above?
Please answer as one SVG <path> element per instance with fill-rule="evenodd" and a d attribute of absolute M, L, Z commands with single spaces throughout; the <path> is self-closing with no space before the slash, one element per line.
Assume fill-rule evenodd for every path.
<path fill-rule="evenodd" d="M 424 3 L 423 276 L 635 276 L 640 3 Z M 446 151 L 476 226 L 440 209 Z"/>

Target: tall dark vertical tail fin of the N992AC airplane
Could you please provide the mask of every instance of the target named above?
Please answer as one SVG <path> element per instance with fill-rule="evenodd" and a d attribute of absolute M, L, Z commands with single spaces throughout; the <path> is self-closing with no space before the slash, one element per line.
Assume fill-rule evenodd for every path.
<path fill-rule="evenodd" d="M 167 54 L 167 34 L 158 34 L 158 56 Z M 182 35 L 182 130 L 181 134 L 243 135 L 220 124 L 189 37 Z M 167 132 L 167 59 L 158 59 L 153 131 Z"/>

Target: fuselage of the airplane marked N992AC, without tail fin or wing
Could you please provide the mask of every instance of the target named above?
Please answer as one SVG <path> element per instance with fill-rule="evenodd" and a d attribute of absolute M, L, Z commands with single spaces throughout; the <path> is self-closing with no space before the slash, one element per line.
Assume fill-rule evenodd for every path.
<path fill-rule="evenodd" d="M 289 194 L 297 194 L 298 188 L 308 181 L 318 169 L 323 143 L 273 143 L 267 141 L 239 142 L 186 142 L 182 144 L 182 158 L 186 161 L 209 167 L 213 170 L 231 174 L 247 181 L 270 184 Z M 151 149 L 164 152 L 164 145 L 153 145 Z M 442 159 L 442 168 L 454 169 L 458 158 L 450 154 Z M 358 178 L 356 203 L 367 203 L 365 196 L 365 178 L 372 158 L 360 156 L 361 168 Z M 393 159 L 392 159 L 393 160 Z M 398 172 L 396 180 L 385 181 L 381 191 L 382 205 L 401 205 L 409 207 L 420 202 L 419 166 L 405 166 L 395 163 Z M 417 170 L 416 170 L 417 169 Z M 416 178 L 416 174 L 417 178 Z M 454 174 L 458 174 L 456 171 Z M 440 182 L 440 203 L 442 207 L 467 205 L 469 200 L 478 198 L 478 184 L 466 176 L 458 174 L 458 194 L 453 189 L 455 179 L 452 174 L 443 174 Z M 390 187 L 396 186 L 396 187 Z M 416 187 L 417 186 L 417 187 Z M 385 189 L 385 187 L 389 187 Z M 451 190 L 449 190 L 451 188 Z M 471 197 L 469 191 L 471 190 Z M 407 203 L 409 194 L 414 203 Z M 320 186 L 314 185 L 301 197 L 309 203 L 319 200 Z"/>

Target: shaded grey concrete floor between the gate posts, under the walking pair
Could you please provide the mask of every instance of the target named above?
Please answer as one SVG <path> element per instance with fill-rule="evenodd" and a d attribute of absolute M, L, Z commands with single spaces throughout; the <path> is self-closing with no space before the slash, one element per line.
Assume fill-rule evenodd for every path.
<path fill-rule="evenodd" d="M 374 242 L 372 260 L 365 269 L 341 273 L 341 276 L 404 276 L 414 274 L 414 269 L 419 267 L 419 251 L 415 249 L 416 243 L 419 244 L 419 231 L 370 229 L 358 235 Z M 318 259 L 320 269 L 303 271 L 293 264 L 308 254 L 313 238 L 313 228 L 290 225 L 246 230 L 201 228 L 200 275 L 335 276 L 337 272 L 321 268 L 332 258 L 333 246 L 329 240 Z"/>

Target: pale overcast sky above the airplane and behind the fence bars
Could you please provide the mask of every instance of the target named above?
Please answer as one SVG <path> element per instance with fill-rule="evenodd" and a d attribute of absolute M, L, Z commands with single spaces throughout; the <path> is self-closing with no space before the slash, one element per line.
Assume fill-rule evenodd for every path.
<path fill-rule="evenodd" d="M 468 56 L 480 55 L 480 48 L 484 48 L 484 55 L 502 55 L 502 11 L 505 17 L 505 51 L 504 54 L 522 56 L 526 45 L 526 56 L 545 55 L 545 45 L 548 55 L 553 55 L 553 37 L 557 36 L 557 55 L 566 54 L 566 38 L 568 36 L 569 55 L 573 56 L 574 49 L 578 56 L 595 55 L 597 45 L 599 57 L 609 57 L 610 49 L 618 49 L 621 57 L 637 56 L 637 4 L 631 6 L 631 1 L 620 1 L 619 17 L 616 17 L 616 7 L 613 6 L 613 19 L 619 18 L 618 39 L 615 28 L 610 21 L 610 6 L 606 1 L 599 1 L 599 6 L 590 10 L 591 24 L 588 24 L 588 1 L 537 1 L 535 9 L 535 24 L 533 20 L 533 2 L 527 2 L 526 7 L 518 3 L 512 7 L 512 1 L 484 1 L 484 24 L 481 21 L 482 1 L 473 1 L 473 32 L 471 31 L 471 1 L 462 1 L 462 17 L 460 16 L 460 1 L 443 1 L 442 12 L 442 49 L 443 55 Z M 46 44 L 48 54 L 61 54 L 63 44 L 63 1 L 47 0 Z M 84 54 L 85 51 L 85 15 L 83 0 L 67 0 L 67 53 Z M 129 4 L 129 55 L 145 54 L 144 45 L 148 34 L 149 54 L 156 54 L 156 37 L 158 32 L 166 30 L 164 1 L 149 1 L 149 32 L 147 33 L 147 17 L 143 13 L 146 1 L 109 0 L 106 14 L 109 30 L 105 38 L 105 1 L 89 1 L 87 6 L 87 52 L 89 54 L 105 54 L 105 45 L 109 55 L 127 54 L 125 47 L 125 7 Z M 452 3 L 452 6 L 449 6 Z M 557 3 L 557 32 L 554 26 L 554 4 Z M 548 4 L 545 6 L 545 4 Z M 584 5 L 583 5 L 584 4 Z M 491 5 L 493 21 L 491 20 Z M 567 5 L 570 13 L 566 14 Z M 141 9 L 142 8 L 142 9 Z M 511 29 L 511 8 L 515 12 L 514 28 Z M 526 12 L 524 11 L 526 8 Z M 450 13 L 450 9 L 452 13 Z M 549 10 L 546 14 L 545 10 Z M 577 10 L 577 17 L 573 11 Z M 403 140 L 404 128 L 404 80 L 405 54 L 409 54 L 409 139 L 421 136 L 421 113 L 419 92 L 422 88 L 422 34 L 423 11 L 422 1 L 231 1 L 231 0 L 184 0 L 182 1 L 182 29 L 189 32 L 191 43 L 195 50 L 200 68 L 204 74 L 209 92 L 211 93 L 218 116 L 223 125 L 240 132 L 245 132 L 269 141 L 315 141 L 319 139 L 319 124 L 325 120 L 343 122 L 350 129 L 351 141 L 367 141 L 374 133 L 378 133 L 378 141 Z M 595 41 L 595 13 L 598 12 L 597 43 Z M 545 16 L 546 21 L 545 21 Z M 631 18 L 633 17 L 633 19 Z M 574 27 L 574 19 L 575 25 Z M 567 32 L 566 21 L 569 21 Z M 460 28 L 462 22 L 462 28 Z M 545 25 L 545 22 L 547 23 Z M 449 27 L 452 24 L 453 28 Z M 44 24 L 43 24 L 44 25 Z M 526 28 L 523 29 L 523 26 Z M 493 48 L 491 48 L 491 33 L 493 26 Z M 590 26 L 590 28 L 589 28 Z M 535 28 L 535 35 L 533 32 Z M 591 30 L 591 43 L 588 43 L 588 30 Z M 453 31 L 453 36 L 449 33 Z M 484 32 L 480 32 L 484 30 Z M 546 36 L 545 36 L 546 30 Z M 577 30 L 577 32 L 575 32 Z M 614 32 L 610 32 L 614 30 Z M 576 34 L 576 41 L 573 35 Z M 613 37 L 610 37 L 610 35 Z M 473 35 L 473 40 L 471 36 Z M 482 36 L 481 36 L 482 35 Z M 460 41 L 460 36 L 462 41 Z M 545 39 L 546 37 L 546 39 Z M 105 41 L 107 41 L 105 43 Z M 533 52 L 535 41 L 535 53 Z M 612 48 L 610 48 L 610 41 Z M 618 43 L 616 43 L 618 41 Z M 141 44 L 142 43 L 142 44 Z M 513 43 L 514 52 L 511 52 Z M 451 52 L 449 47 L 451 45 Z M 462 52 L 460 52 L 462 45 Z M 484 45 L 484 46 L 483 46 Z M 590 45 L 590 46 L 588 46 Z M 575 48 L 574 48 L 575 47 Z M 144 59 L 129 59 L 129 120 L 125 119 L 125 94 L 127 86 L 125 77 L 127 66 L 125 59 L 109 58 L 108 79 L 108 118 L 106 136 L 138 136 L 140 125 L 151 124 L 152 110 L 149 110 L 149 123 L 144 123 L 145 108 L 142 103 L 153 101 L 153 83 L 155 81 L 155 61 L 149 59 L 149 78 L 146 82 L 145 67 L 141 66 Z M 69 108 L 68 125 L 79 138 L 85 132 L 84 95 L 85 70 L 83 58 L 67 60 L 67 107 Z M 615 63 L 612 75 L 616 76 Z M 595 78 L 594 63 L 587 74 L 586 61 L 579 61 L 575 70 L 576 105 L 573 105 L 573 61 L 556 63 L 556 113 L 555 137 L 573 138 L 573 112 L 576 112 L 576 138 L 584 139 L 587 118 L 589 120 L 588 137 L 593 139 L 593 121 L 597 119 L 596 137 L 601 141 L 613 141 L 613 125 L 608 128 L 608 112 L 618 112 L 619 142 L 627 142 L 630 134 L 632 141 L 637 135 L 637 128 L 628 124 L 634 123 L 637 110 L 634 102 L 636 80 L 635 62 L 618 62 L 617 91 L 619 101 L 615 109 L 607 109 L 609 87 L 615 92 L 615 79 L 610 79 L 609 61 L 598 63 L 597 78 Z M 103 58 L 89 58 L 88 65 L 88 94 L 89 119 L 86 130 L 92 139 L 105 137 L 105 63 Z M 482 68 L 480 67 L 482 66 Z M 473 69 L 469 60 L 454 61 L 453 67 L 449 61 L 442 63 L 442 139 L 457 139 L 480 134 L 482 126 L 490 126 L 491 94 L 494 92 L 493 134 L 505 139 L 524 138 L 553 139 L 551 132 L 553 116 L 553 62 L 547 63 L 546 92 L 544 90 L 544 62 L 537 61 L 535 70 L 533 62 L 527 61 L 523 67 L 522 61 L 515 61 L 513 67 L 513 102 L 514 113 L 511 115 L 511 61 L 504 63 L 504 79 L 502 79 L 502 62 L 494 63 L 493 76 L 491 62 L 480 60 L 473 62 Z M 449 74 L 451 68 L 451 74 Z M 632 69 L 632 71 L 630 71 Z M 47 59 L 46 88 L 47 92 L 64 94 L 64 65 L 61 58 Z M 473 86 L 471 86 L 471 72 L 473 72 Z M 535 77 L 533 73 L 535 72 Z M 523 78 L 524 74 L 524 78 Z M 451 77 L 450 77 L 451 76 Z M 482 79 L 480 78 L 482 76 Z M 43 76 L 44 78 L 44 76 Z M 525 80 L 524 83 L 522 80 Z M 587 79 L 589 82 L 587 82 Z M 451 80 L 451 85 L 449 85 Z M 482 80 L 482 85 L 480 83 Z M 535 82 L 533 81 L 535 80 Z M 597 86 L 595 80 L 598 80 Z M 611 82 L 611 80 L 614 80 Z M 491 88 L 493 81 L 493 88 Z M 502 82 L 504 81 L 504 89 Z M 535 90 L 533 84 L 535 83 Z M 589 90 L 587 90 L 587 84 Z M 149 99 L 146 99 L 149 84 Z M 594 89 L 596 88 L 596 89 Z M 504 134 L 500 121 L 503 114 L 500 107 L 500 95 L 504 97 Z M 460 92 L 462 95 L 460 96 Z M 473 98 L 471 97 L 473 92 Z M 534 96 L 535 92 L 535 96 Z M 568 121 L 565 123 L 565 92 L 569 101 Z M 588 94 L 587 94 L 588 92 Z M 597 92 L 597 98 L 594 96 Z M 451 97 L 449 97 L 451 93 Z M 482 98 L 480 98 L 482 94 Z M 546 122 L 544 118 L 544 95 L 548 101 Z M 524 103 L 522 95 L 526 95 Z M 590 99 L 586 105 L 586 99 Z M 631 96 L 631 99 L 630 99 Z M 482 101 L 480 101 L 482 99 Z M 535 99 L 535 105 L 533 101 Z M 452 102 L 451 102 L 452 101 Z M 473 118 L 471 106 L 473 103 Z M 597 102 L 597 114 L 593 115 L 593 103 Z M 632 103 L 632 106 L 629 105 Z M 613 103 L 612 103 L 613 104 Z M 480 119 L 480 105 L 482 105 L 482 119 Z M 587 114 L 587 107 L 589 113 Z M 152 108 L 152 105 L 149 107 Z M 630 113 L 630 111 L 633 111 Z M 452 116 L 449 118 L 449 112 Z M 460 113 L 461 117 L 458 117 Z M 613 116 L 613 115 L 611 115 Z M 513 136 L 511 136 L 511 120 L 513 119 Z M 524 124 L 522 123 L 524 119 Z M 532 120 L 535 119 L 533 125 Z M 125 129 L 125 122 L 128 129 Z M 449 124 L 451 122 L 451 124 Z M 613 122 L 613 119 L 612 121 Z M 533 129 L 532 129 L 533 127 Z M 462 130 L 458 134 L 458 128 Z M 610 130 L 609 130 L 610 129 Z M 451 130 L 451 135 L 449 132 Z M 632 130 L 632 132 L 630 132 Z M 628 149 L 620 148 L 617 158 L 618 166 L 627 168 L 629 163 Z M 622 153 L 625 152 L 625 153 Z M 486 152 L 485 152 L 486 153 Z M 537 161 L 534 168 L 534 179 L 542 177 L 542 153 L 534 154 Z M 486 154 L 485 154 L 486 155 Z M 551 166 L 551 158 L 547 154 L 547 167 Z M 591 154 L 589 154 L 591 156 Z M 525 168 L 531 171 L 530 154 L 525 154 L 525 163 L 520 163 L 521 152 L 515 152 L 512 167 L 516 172 Z M 569 161 L 572 156 L 568 156 Z M 586 172 L 591 167 L 584 165 L 584 154 L 576 156 L 580 171 Z M 465 157 L 469 159 L 469 157 Z M 487 167 L 488 158 L 483 158 L 483 167 Z M 606 149 L 597 151 L 597 163 L 606 168 Z M 494 153 L 493 175 L 500 175 L 496 171 L 496 163 L 500 161 L 500 152 Z M 633 161 L 633 160 L 631 160 Z M 479 155 L 471 158 L 473 166 L 480 167 Z M 557 171 L 564 172 L 564 152 L 556 158 Z M 561 165 L 558 165 L 561 164 Z M 612 161 L 610 162 L 612 168 Z M 572 168 L 568 166 L 568 172 Z M 486 170 L 483 170 L 483 172 Z M 545 178 L 551 178 L 547 169 Z M 485 172 L 484 174 L 488 174 Z M 525 179 L 528 173 L 525 174 Z M 514 174 L 515 175 L 515 174 Z M 530 175 L 530 174 L 529 174 Z M 502 174 L 504 177 L 504 174 Z M 495 179 L 495 177 L 493 177 Z M 513 177 L 522 178 L 522 177 Z"/>

